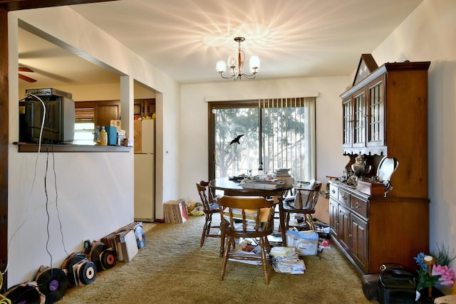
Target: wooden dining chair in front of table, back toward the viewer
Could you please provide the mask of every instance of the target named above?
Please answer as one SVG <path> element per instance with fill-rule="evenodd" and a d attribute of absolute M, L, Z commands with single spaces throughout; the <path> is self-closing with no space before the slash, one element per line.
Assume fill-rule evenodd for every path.
<path fill-rule="evenodd" d="M 273 200 L 257 196 L 222 196 L 218 199 L 222 217 L 222 234 L 227 236 L 224 248 L 220 280 L 223 281 L 229 259 L 261 261 L 264 282 L 269 284 L 268 257 L 271 248 L 267 236 L 274 230 Z M 253 239 L 260 248 L 259 253 L 244 253 L 232 250 L 235 239 Z M 234 249 L 234 248 L 233 248 Z"/>

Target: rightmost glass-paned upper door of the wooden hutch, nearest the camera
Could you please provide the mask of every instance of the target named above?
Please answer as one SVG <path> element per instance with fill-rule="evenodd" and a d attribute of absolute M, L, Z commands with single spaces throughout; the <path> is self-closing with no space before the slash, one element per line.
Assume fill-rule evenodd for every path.
<path fill-rule="evenodd" d="M 369 87 L 368 105 L 368 147 L 385 145 L 385 99 L 383 79 L 375 81 Z"/>

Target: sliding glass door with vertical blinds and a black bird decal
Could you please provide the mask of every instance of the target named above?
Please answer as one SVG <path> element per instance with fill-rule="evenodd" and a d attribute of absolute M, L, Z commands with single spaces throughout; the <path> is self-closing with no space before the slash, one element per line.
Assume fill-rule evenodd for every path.
<path fill-rule="evenodd" d="M 315 178 L 315 98 L 209 103 L 209 178 L 289 168 Z"/>

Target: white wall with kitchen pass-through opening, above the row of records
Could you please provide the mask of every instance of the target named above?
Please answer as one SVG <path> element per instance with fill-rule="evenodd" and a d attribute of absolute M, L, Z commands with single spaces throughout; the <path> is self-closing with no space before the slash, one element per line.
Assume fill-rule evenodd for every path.
<path fill-rule="evenodd" d="M 123 128 L 133 130 L 133 79 L 157 92 L 157 217 L 162 216 L 163 201 L 179 195 L 178 159 L 180 158 L 180 85 L 160 70 L 145 62 L 121 43 L 82 19 L 67 6 L 14 11 L 9 16 L 9 271 L 8 283 L 30 281 L 39 266 L 59 268 L 68 253 L 81 251 L 81 240 L 100 239 L 133 221 L 133 149 L 120 153 L 55 153 L 40 154 L 35 169 L 36 153 L 19 153 L 13 145 L 19 138 L 19 83 L 17 80 L 18 20 L 44 31 L 57 43 L 71 46 L 91 61 L 123 73 L 121 92 L 110 93 L 113 85 L 99 86 L 100 95 L 76 96 L 81 100 L 118 99 L 127 115 Z M 52 18 L 49 18 L 52 16 Z M 56 26 L 58 24 L 58 26 Z M 75 26 L 77 24 L 78 26 Z M 60 44 L 59 44 L 60 45 Z M 106 50 L 110 52 L 106 52 Z M 112 50 L 115 50 L 112 51 Z M 76 88 L 58 88 L 78 92 Z M 78 93 L 77 93 L 78 94 Z M 23 93 L 21 97 L 23 98 Z M 164 130 L 166 135 L 163 136 Z M 44 193 L 46 158 L 49 157 Z M 57 216 L 53 162 L 56 170 L 57 207 L 62 224 L 63 243 Z M 163 167 L 166 170 L 162 169 Z M 36 174 L 36 175 L 35 175 Z M 36 176 L 36 179 L 34 177 Z M 33 179 L 35 180 L 33 184 Z M 33 184 L 33 192 L 32 192 Z M 47 216 L 50 214 L 50 239 L 46 248 Z M 23 224 L 24 223 L 24 224 Z"/>

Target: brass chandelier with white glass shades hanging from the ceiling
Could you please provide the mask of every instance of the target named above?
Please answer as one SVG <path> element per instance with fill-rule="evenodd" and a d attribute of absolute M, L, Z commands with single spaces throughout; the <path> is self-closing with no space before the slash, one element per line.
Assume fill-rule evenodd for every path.
<path fill-rule="evenodd" d="M 237 59 L 234 56 L 229 56 L 227 62 L 217 61 L 217 72 L 222 76 L 222 78 L 230 79 L 234 78 L 234 81 L 241 79 L 242 77 L 248 79 L 254 79 L 259 70 L 259 57 L 251 56 L 249 60 L 250 74 L 242 73 L 242 68 L 244 68 L 245 54 L 241 49 L 241 42 L 244 41 L 244 37 L 235 37 L 234 41 L 239 43 L 239 48 L 237 51 Z M 229 67 L 229 76 L 223 75 L 223 73 Z"/>

